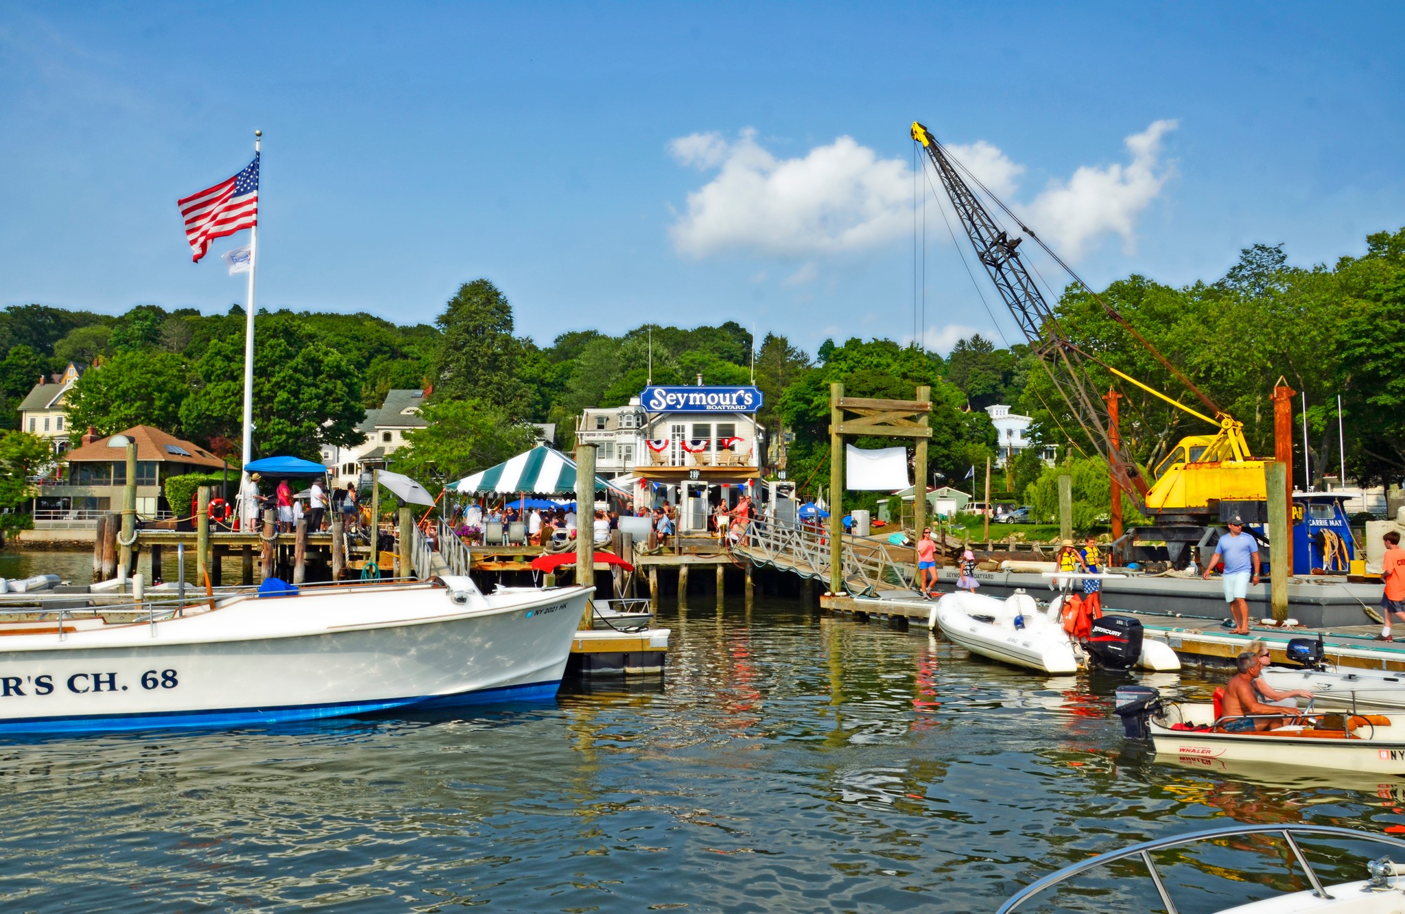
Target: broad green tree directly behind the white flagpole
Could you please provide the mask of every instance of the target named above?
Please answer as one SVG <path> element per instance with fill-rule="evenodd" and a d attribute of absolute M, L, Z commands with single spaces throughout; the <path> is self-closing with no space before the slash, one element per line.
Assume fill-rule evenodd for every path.
<path fill-rule="evenodd" d="M 254 456 L 315 460 L 322 444 L 364 440 L 361 375 L 343 353 L 315 339 L 296 316 L 268 315 L 254 329 Z M 211 340 L 197 363 L 200 382 L 181 419 L 205 440 L 243 436 L 244 340 Z"/>

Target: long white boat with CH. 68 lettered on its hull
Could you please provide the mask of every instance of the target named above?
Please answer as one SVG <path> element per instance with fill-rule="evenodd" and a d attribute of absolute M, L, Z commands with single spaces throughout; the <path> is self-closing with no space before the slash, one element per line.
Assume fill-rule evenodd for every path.
<path fill-rule="evenodd" d="M 551 699 L 592 588 L 306 588 L 124 624 L 0 624 L 0 731 L 230 727 Z"/>

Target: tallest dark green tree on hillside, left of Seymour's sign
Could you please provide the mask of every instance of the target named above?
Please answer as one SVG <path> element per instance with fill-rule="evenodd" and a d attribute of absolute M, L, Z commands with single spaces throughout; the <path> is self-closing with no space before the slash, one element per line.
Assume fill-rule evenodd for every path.
<path fill-rule="evenodd" d="M 479 399 L 524 416 L 530 391 L 517 375 L 523 345 L 513 336 L 513 308 L 488 280 L 459 287 L 436 323 L 444 332 L 434 359 L 440 399 Z"/>

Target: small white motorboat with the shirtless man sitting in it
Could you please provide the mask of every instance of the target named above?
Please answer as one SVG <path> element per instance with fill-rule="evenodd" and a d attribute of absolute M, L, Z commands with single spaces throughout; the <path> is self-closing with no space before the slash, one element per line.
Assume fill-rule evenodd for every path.
<path fill-rule="evenodd" d="M 1114 713 L 1130 738 L 1151 740 L 1163 759 L 1225 759 L 1373 775 L 1405 775 L 1405 714 L 1284 709 L 1272 730 L 1228 731 L 1215 702 L 1162 700 L 1145 685 L 1117 686 Z M 1281 726 L 1280 726 L 1281 724 Z"/>

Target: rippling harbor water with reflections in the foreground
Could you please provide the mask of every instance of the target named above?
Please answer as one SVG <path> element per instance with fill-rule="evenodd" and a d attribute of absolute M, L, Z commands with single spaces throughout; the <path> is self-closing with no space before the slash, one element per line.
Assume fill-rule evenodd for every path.
<path fill-rule="evenodd" d="M 0 574 L 55 567 L 14 555 Z M 986 911 L 1092 854 L 1231 821 L 1405 831 L 1390 782 L 1154 761 L 1111 716 L 1125 678 L 1048 679 L 917 627 L 712 599 L 660 607 L 662 682 L 433 716 L 3 740 L 0 903 Z M 1246 897 L 1302 884 L 1267 845 L 1221 851 L 1249 873 L 1229 877 Z M 1183 869 L 1172 882 L 1196 887 L 1225 863 Z"/>

